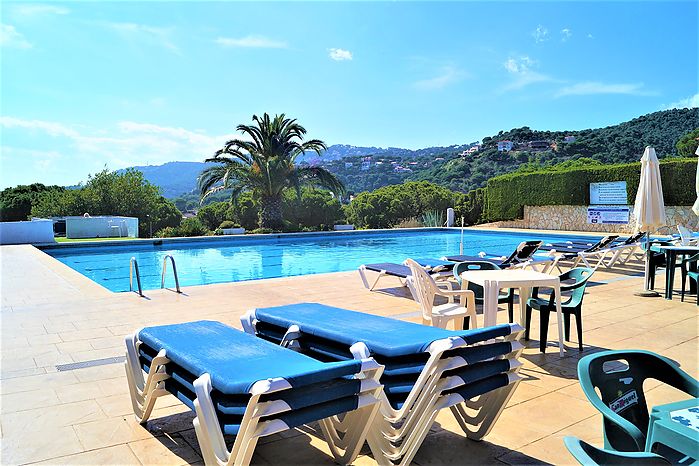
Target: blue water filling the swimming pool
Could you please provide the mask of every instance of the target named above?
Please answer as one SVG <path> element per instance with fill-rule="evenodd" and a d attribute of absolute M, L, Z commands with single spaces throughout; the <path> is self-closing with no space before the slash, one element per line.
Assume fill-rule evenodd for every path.
<path fill-rule="evenodd" d="M 458 230 L 425 229 L 380 232 L 281 235 L 267 238 L 211 238 L 198 241 L 129 242 L 44 249 L 111 291 L 129 290 L 129 259 L 137 259 L 144 290 L 160 288 L 163 258 L 177 263 L 181 286 L 236 282 L 356 270 L 361 264 L 403 262 L 408 257 L 458 254 Z M 569 235 L 466 230 L 464 254 L 480 251 L 509 255 L 523 240 L 566 241 Z M 172 271 L 166 286 L 174 286 Z M 135 286 L 135 282 L 134 282 Z"/>

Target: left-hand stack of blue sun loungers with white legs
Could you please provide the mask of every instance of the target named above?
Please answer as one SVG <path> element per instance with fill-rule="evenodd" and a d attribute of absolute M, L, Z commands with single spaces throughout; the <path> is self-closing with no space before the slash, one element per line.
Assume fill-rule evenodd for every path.
<path fill-rule="evenodd" d="M 315 421 L 336 461 L 349 463 L 383 393 L 383 368 L 370 358 L 323 363 L 219 322 L 144 328 L 126 338 L 126 356 L 139 422 L 158 397 L 174 395 L 196 413 L 197 440 L 211 466 L 247 465 L 259 438 Z M 343 414 L 340 434 L 334 418 Z M 235 437 L 230 450 L 224 435 Z"/>

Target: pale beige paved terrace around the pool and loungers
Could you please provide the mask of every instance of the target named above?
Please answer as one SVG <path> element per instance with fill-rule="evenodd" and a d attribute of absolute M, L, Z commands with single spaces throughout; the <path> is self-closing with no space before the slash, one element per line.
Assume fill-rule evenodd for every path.
<path fill-rule="evenodd" d="M 298 301 L 419 320 L 417 305 L 403 289 L 369 292 L 356 272 L 189 287 L 183 295 L 148 291 L 144 299 L 111 293 L 31 246 L 3 246 L 0 253 L 3 464 L 201 464 L 192 414 L 176 399 L 159 399 L 142 427 L 131 413 L 121 363 L 56 369 L 122 355 L 124 336 L 138 327 L 195 319 L 240 327 L 239 316 L 250 308 Z M 695 298 L 680 303 L 636 297 L 639 271 L 637 266 L 595 275 L 584 305 L 583 354 L 648 349 L 675 359 L 696 377 Z M 389 279 L 383 283 L 392 286 Z M 504 309 L 500 315 L 506 320 Z M 536 323 L 532 332 L 536 338 Z M 556 336 L 554 322 L 549 335 Z M 600 445 L 601 419 L 576 380 L 577 343 L 570 348 L 560 359 L 553 348 L 541 355 L 532 340 L 523 355 L 525 380 L 486 440 L 467 440 L 444 412 L 415 464 L 570 464 L 563 436 Z M 657 384 L 648 389 L 651 405 L 682 398 Z M 253 463 L 332 464 L 324 441 L 310 429 L 262 441 Z M 356 463 L 374 464 L 367 456 Z"/>

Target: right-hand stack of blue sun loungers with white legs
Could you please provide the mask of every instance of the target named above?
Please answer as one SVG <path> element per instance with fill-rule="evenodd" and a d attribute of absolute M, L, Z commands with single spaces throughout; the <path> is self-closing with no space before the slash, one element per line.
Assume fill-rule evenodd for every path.
<path fill-rule="evenodd" d="M 520 380 L 516 324 L 449 331 L 316 303 L 256 309 L 242 321 L 320 361 L 373 357 L 385 366 L 381 415 L 367 438 L 379 464 L 410 464 L 445 408 L 469 438 L 483 438 Z"/>

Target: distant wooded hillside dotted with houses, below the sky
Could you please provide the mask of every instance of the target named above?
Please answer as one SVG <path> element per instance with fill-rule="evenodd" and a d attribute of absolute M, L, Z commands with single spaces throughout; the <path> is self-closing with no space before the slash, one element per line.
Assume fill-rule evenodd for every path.
<path fill-rule="evenodd" d="M 308 155 L 302 163 L 327 167 L 353 193 L 406 180 L 433 181 L 465 192 L 525 163 L 548 166 L 581 157 L 604 163 L 632 162 L 640 158 L 646 145 L 655 147 L 660 158 L 671 157 L 676 155 L 677 140 L 696 128 L 699 109 L 674 109 L 606 128 L 539 131 L 525 126 L 500 131 L 483 138 L 480 150 L 470 154 L 464 151 L 475 143 L 419 150 L 336 144 L 328 147 L 322 157 Z M 573 142 L 570 136 L 575 139 Z M 512 141 L 511 151 L 498 151 L 497 143 L 503 140 Z M 202 162 L 169 162 L 135 168 L 160 186 L 166 197 L 185 195 L 187 201 L 194 202 L 196 196 L 186 194 L 194 191 L 196 178 L 204 167 Z"/>

